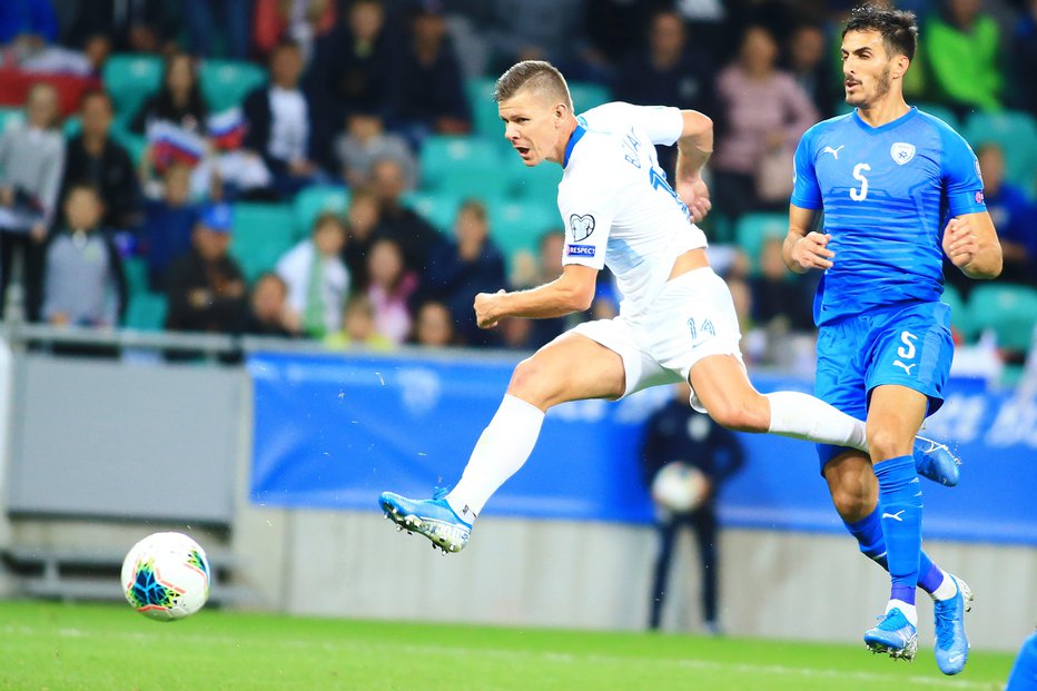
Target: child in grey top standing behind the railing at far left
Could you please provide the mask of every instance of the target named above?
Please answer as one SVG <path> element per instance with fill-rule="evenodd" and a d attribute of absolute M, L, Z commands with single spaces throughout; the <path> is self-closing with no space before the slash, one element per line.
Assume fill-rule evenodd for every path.
<path fill-rule="evenodd" d="M 56 326 L 115 327 L 126 309 L 119 251 L 100 231 L 103 203 L 89 184 L 71 185 L 66 225 L 47 247 L 43 319 Z"/>

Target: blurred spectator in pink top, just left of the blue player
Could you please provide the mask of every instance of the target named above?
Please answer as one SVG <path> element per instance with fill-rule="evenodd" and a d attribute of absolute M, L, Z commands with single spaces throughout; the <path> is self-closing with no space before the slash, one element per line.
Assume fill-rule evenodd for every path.
<path fill-rule="evenodd" d="M 718 78 L 721 136 L 713 157 L 713 209 L 730 217 L 766 205 L 787 206 L 792 154 L 818 113 L 798 83 L 774 67 L 778 45 L 751 27 L 739 58 Z"/>

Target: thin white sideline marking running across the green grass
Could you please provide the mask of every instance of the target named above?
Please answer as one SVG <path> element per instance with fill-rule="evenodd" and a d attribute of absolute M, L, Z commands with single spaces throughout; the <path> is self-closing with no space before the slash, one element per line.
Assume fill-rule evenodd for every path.
<path fill-rule="evenodd" d="M 32 626 L 12 626 L 6 625 L 0 626 L 0 633 L 6 635 L 36 635 L 36 634 L 47 634 L 50 633 L 50 630 L 34 629 Z M 118 632 L 118 631 L 90 631 L 83 629 L 71 629 L 63 628 L 55 631 L 58 635 L 62 638 L 75 638 L 75 639 L 89 639 L 89 638 L 103 638 L 106 640 L 110 639 L 121 639 L 126 641 L 154 641 L 158 639 L 168 639 L 174 641 L 189 641 L 192 643 L 204 643 L 204 644 L 226 644 L 230 646 L 239 646 L 241 644 L 240 638 L 226 636 L 226 635 L 206 635 L 206 634 L 182 634 L 175 632 L 157 632 L 157 633 L 131 633 L 131 632 Z M 740 672 L 745 674 L 782 674 L 786 677 L 802 677 L 807 679 L 848 679 L 852 678 L 866 682 L 890 682 L 896 684 L 918 684 L 924 687 L 932 687 L 937 689 L 979 689 L 981 691 L 990 691 L 990 689 L 999 688 L 997 682 L 992 684 L 989 682 L 980 681 L 968 681 L 965 679 L 947 679 L 944 677 L 900 677 L 898 674 L 882 674 L 878 672 L 853 672 L 853 671 L 843 671 L 843 670 L 819 670 L 813 668 L 800 668 L 800 667 L 788 667 L 784 664 L 749 664 L 749 663 L 737 663 L 730 664 L 725 662 L 714 662 L 712 660 L 689 660 L 689 659 L 672 659 L 672 658 L 631 658 L 626 655 L 602 655 L 602 654 L 574 654 L 574 653 L 555 653 L 555 652 L 535 652 L 535 651 L 514 651 L 514 650 L 504 650 L 504 649 L 493 649 L 493 648 L 464 648 L 464 646 L 452 646 L 452 645 L 435 645 L 435 644 L 396 644 L 396 643 L 384 643 L 384 644 L 367 644 L 361 643 L 357 644 L 357 641 L 322 641 L 315 643 L 314 641 L 300 641 L 293 639 L 280 639 L 276 641 L 279 645 L 286 645 L 290 648 L 306 648 L 314 649 L 319 646 L 327 651 L 352 649 L 352 650 L 377 650 L 377 651 L 392 651 L 392 652 L 404 652 L 404 653 L 414 653 L 414 654 L 450 654 L 450 655 L 472 655 L 472 657 L 493 657 L 505 660 L 525 660 L 529 658 L 542 658 L 550 662 L 559 662 L 565 664 L 572 664 L 579 661 L 594 662 L 599 664 L 626 664 L 632 661 L 638 661 L 642 663 L 656 664 L 662 667 L 676 667 L 689 670 L 710 670 L 710 671 L 727 671 L 727 672 Z M 863 652 L 863 650 L 862 650 Z"/>

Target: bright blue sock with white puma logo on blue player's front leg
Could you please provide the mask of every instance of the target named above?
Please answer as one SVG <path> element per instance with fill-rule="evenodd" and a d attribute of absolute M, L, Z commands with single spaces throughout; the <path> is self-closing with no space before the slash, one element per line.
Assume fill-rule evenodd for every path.
<path fill-rule="evenodd" d="M 890 600 L 915 604 L 921 553 L 921 486 L 911 456 L 875 464 L 886 535 L 886 561 L 892 581 Z"/>

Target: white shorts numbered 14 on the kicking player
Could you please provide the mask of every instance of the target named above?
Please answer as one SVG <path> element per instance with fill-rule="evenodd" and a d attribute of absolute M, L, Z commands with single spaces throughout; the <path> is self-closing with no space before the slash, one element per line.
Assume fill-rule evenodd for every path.
<path fill-rule="evenodd" d="M 668 282 L 645 313 L 584 322 L 571 333 L 623 358 L 626 391 L 622 397 L 649 386 L 687 382 L 692 366 L 710 355 L 733 355 L 745 367 L 731 292 L 709 267 Z M 705 412 L 694 391 L 691 405 Z"/>

